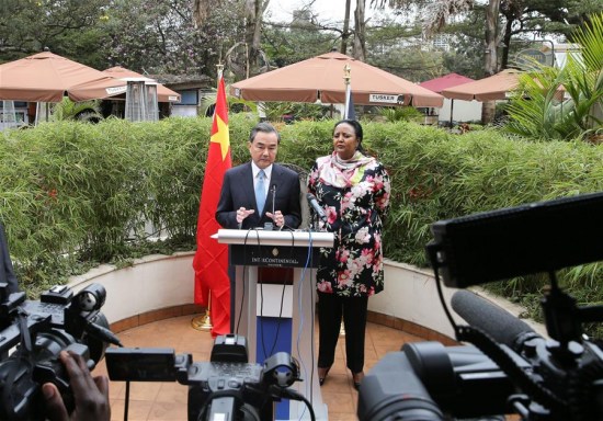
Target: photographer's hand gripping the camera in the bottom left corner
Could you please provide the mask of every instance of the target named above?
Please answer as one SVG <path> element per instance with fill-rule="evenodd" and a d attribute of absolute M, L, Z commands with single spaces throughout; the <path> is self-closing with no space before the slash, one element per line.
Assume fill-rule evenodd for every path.
<path fill-rule="evenodd" d="M 69 375 L 69 384 L 73 392 L 75 409 L 69 416 L 62 397 L 52 383 L 42 386 L 46 400 L 46 416 L 50 421 L 109 421 L 111 407 L 109 403 L 109 378 L 92 377 L 86 361 L 75 353 L 61 351 L 60 361 Z"/>

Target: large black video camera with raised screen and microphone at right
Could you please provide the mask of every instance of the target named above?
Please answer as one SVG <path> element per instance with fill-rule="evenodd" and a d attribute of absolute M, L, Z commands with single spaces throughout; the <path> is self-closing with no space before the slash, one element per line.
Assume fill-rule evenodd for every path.
<path fill-rule="evenodd" d="M 579 307 L 555 276 L 603 260 L 602 215 L 596 193 L 433 224 L 426 249 L 440 298 L 456 340 L 473 345 L 409 343 L 386 355 L 361 385 L 360 420 L 602 420 L 603 350 L 581 323 L 602 321 L 603 307 Z M 469 291 L 453 295 L 469 323 L 457 326 L 440 285 L 440 274 L 465 288 L 541 272 L 550 278 L 542 298 L 550 339 Z"/>

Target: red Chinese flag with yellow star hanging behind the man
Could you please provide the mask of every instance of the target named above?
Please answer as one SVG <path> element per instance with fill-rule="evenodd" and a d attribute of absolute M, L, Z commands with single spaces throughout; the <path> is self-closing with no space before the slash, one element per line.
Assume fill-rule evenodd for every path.
<path fill-rule="evenodd" d="M 224 173 L 231 167 L 228 107 L 224 78 L 219 77 L 212 138 L 205 166 L 197 218 L 197 251 L 193 259 L 195 270 L 195 304 L 212 308 L 212 335 L 230 332 L 230 282 L 228 278 L 228 246 L 211 236 L 220 228 L 216 208 Z M 208 297 L 211 296 L 211 301 Z M 211 303 L 211 304 L 209 304 Z"/>

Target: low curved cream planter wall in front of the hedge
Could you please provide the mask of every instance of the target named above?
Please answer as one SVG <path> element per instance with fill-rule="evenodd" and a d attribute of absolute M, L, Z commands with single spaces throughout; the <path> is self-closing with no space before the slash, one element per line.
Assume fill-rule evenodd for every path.
<path fill-rule="evenodd" d="M 115 332 L 169 317 L 202 314 L 205 308 L 193 303 L 193 255 L 194 252 L 149 255 L 123 269 L 102 265 L 72 277 L 69 285 L 75 291 L 94 282 L 105 287 L 106 303 L 102 311 Z M 454 292 L 444 287 L 448 306 Z M 477 292 L 514 315 L 522 311 L 481 289 Z M 368 320 L 425 339 L 454 343 L 433 273 L 408 264 L 386 260 L 385 291 L 368 299 Z M 463 322 L 460 318 L 456 320 Z M 542 326 L 531 325 L 545 333 Z"/>

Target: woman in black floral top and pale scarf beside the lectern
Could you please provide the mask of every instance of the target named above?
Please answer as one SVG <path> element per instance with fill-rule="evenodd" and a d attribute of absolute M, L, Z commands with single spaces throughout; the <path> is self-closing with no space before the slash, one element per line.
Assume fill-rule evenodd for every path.
<path fill-rule="evenodd" d="M 383 218 L 389 207 L 389 177 L 363 153 L 362 126 L 343 120 L 333 129 L 333 152 L 316 160 L 308 192 L 325 209 L 320 228 L 334 234 L 333 248 L 320 250 L 317 271 L 319 351 L 322 385 L 334 361 L 341 318 L 346 365 L 357 388 L 364 377 L 364 338 L 368 297 L 384 288 Z"/>

